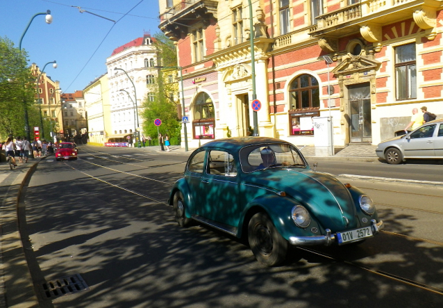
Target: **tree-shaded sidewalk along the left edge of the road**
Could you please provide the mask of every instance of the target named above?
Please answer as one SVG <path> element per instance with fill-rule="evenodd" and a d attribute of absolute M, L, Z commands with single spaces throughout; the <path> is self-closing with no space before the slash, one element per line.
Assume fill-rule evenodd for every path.
<path fill-rule="evenodd" d="M 0 308 L 39 307 L 17 218 L 19 194 L 39 161 L 17 163 L 14 170 L 8 163 L 0 163 Z"/>

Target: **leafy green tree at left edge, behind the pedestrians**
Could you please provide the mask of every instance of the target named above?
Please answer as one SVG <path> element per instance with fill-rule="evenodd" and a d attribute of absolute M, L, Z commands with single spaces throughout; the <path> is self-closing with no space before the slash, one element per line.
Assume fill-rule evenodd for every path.
<path fill-rule="evenodd" d="M 26 51 L 15 48 L 8 38 L 0 37 L 1 138 L 24 136 L 24 104 L 28 110 L 33 110 L 35 78 L 29 70 L 26 56 Z M 30 127 L 34 124 L 37 122 L 30 120 Z"/>

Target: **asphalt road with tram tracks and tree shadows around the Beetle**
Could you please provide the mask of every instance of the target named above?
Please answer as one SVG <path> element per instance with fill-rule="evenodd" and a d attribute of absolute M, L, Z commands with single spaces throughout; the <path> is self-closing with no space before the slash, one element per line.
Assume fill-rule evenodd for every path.
<path fill-rule="evenodd" d="M 231 236 L 178 227 L 166 202 L 186 160 L 81 147 L 78 161 L 40 162 L 26 190 L 25 248 L 42 307 L 442 307 L 439 186 L 351 179 L 373 197 L 385 232 L 358 246 L 297 250 L 301 259 L 265 268 Z M 342 166 L 317 170 L 385 175 L 377 163 Z M 401 170 L 419 179 L 415 168 Z M 47 298 L 44 286 L 77 274 L 85 290 Z"/>

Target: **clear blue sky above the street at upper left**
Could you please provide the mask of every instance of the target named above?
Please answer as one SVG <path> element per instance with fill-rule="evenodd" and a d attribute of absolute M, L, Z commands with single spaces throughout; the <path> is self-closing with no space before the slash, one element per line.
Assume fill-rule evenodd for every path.
<path fill-rule="evenodd" d="M 116 23 L 80 13 L 77 6 Z M 44 71 L 60 81 L 62 92 L 83 90 L 106 72 L 106 58 L 115 48 L 142 37 L 144 31 L 151 35 L 160 31 L 158 0 L 0 0 L 0 36 L 18 48 L 31 17 L 47 10 L 53 22 L 47 24 L 44 15 L 35 17 L 22 49 L 28 51 L 28 63 L 41 69 L 57 61 L 56 69 L 47 65 Z"/>

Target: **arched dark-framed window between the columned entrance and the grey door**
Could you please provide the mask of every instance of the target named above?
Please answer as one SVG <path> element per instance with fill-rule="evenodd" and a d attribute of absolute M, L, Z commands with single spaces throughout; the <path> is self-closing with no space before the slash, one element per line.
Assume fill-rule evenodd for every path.
<path fill-rule="evenodd" d="M 319 83 L 314 76 L 303 74 L 292 81 L 289 88 L 290 135 L 314 134 L 312 117 L 319 116 Z"/>

